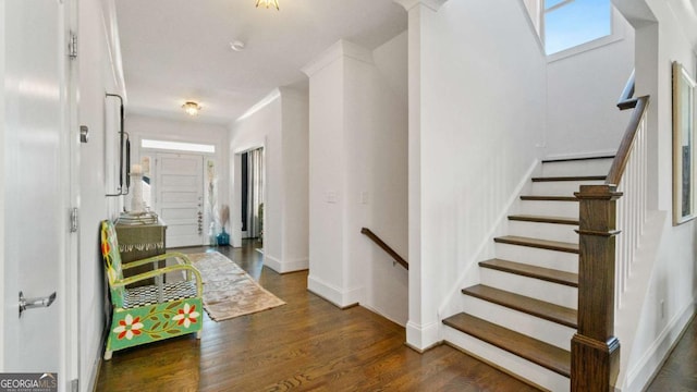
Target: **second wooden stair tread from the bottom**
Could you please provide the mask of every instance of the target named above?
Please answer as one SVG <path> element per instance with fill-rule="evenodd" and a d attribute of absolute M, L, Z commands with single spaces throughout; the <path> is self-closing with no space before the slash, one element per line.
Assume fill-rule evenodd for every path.
<path fill-rule="evenodd" d="M 573 329 L 578 328 L 578 316 L 576 310 L 572 308 L 490 287 L 484 284 L 463 289 L 462 293 Z"/>

